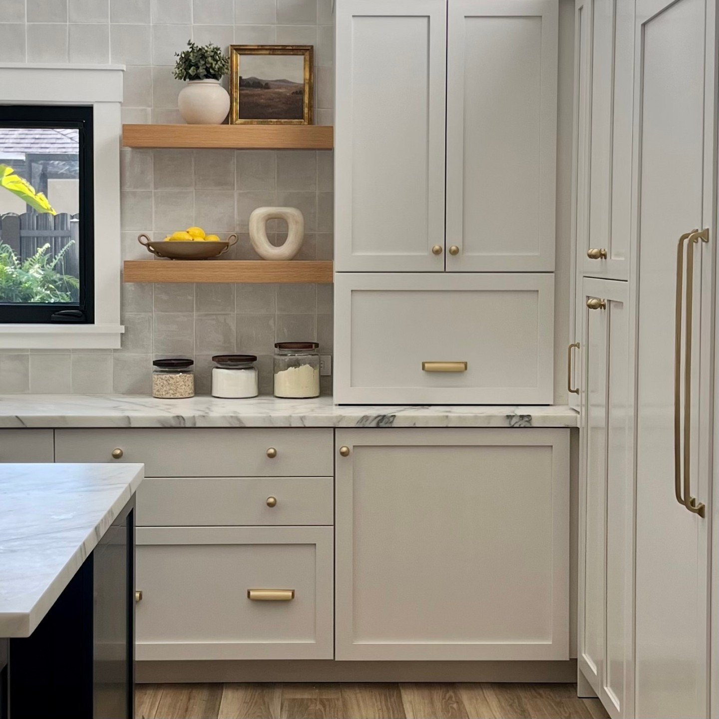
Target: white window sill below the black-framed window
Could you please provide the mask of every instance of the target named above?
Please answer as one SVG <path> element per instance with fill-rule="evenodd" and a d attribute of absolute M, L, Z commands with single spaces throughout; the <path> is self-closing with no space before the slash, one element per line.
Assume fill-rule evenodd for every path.
<path fill-rule="evenodd" d="M 119 349 L 119 324 L 4 324 L 0 349 Z"/>

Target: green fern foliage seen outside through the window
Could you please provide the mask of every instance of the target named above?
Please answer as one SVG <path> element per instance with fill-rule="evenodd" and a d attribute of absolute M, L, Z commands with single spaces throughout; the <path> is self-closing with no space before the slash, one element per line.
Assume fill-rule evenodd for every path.
<path fill-rule="evenodd" d="M 47 254 L 50 245 L 44 244 L 21 261 L 12 247 L 0 242 L 0 302 L 77 302 L 80 280 L 58 272 L 58 263 L 72 244 L 68 242 L 55 257 Z"/>

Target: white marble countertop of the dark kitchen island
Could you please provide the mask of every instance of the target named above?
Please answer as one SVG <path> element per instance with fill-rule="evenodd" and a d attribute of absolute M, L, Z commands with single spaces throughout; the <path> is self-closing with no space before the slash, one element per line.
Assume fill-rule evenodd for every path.
<path fill-rule="evenodd" d="M 35 631 L 143 474 L 142 464 L 0 464 L 0 637 Z"/>

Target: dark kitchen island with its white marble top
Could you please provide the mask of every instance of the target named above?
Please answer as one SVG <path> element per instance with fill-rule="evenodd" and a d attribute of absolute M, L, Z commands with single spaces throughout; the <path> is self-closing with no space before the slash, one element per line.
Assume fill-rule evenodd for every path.
<path fill-rule="evenodd" d="M 142 464 L 0 467 L 0 716 L 131 717 Z"/>

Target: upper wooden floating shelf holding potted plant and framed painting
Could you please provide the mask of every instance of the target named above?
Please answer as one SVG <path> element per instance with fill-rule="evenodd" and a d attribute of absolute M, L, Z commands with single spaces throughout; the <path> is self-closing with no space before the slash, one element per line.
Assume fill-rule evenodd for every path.
<path fill-rule="evenodd" d="M 123 125 L 123 147 L 331 150 L 331 125 Z"/>

